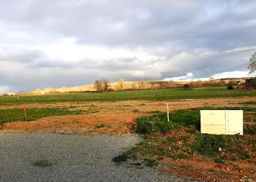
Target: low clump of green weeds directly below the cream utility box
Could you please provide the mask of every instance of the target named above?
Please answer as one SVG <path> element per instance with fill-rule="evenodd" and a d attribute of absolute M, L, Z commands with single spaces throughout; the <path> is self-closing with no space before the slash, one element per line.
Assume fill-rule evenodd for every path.
<path fill-rule="evenodd" d="M 198 154 L 214 157 L 220 154 L 219 148 L 225 149 L 227 142 L 222 135 L 197 134 L 191 148 Z"/>

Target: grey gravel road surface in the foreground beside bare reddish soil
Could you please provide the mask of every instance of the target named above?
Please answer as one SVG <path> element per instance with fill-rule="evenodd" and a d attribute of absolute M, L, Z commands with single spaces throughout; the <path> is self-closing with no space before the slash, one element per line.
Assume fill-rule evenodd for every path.
<path fill-rule="evenodd" d="M 0 132 L 0 181 L 184 181 L 112 158 L 141 140 L 126 135 Z"/>

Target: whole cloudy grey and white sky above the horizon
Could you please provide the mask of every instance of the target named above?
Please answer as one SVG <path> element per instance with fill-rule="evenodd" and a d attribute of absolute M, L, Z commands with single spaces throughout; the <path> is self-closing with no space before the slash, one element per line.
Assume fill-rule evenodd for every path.
<path fill-rule="evenodd" d="M 96 79 L 248 76 L 255 7 L 254 0 L 0 0 L 0 93 Z"/>

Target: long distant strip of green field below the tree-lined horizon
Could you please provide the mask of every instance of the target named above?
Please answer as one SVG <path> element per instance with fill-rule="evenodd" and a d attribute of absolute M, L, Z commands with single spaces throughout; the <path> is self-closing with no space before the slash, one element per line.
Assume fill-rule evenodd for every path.
<path fill-rule="evenodd" d="M 56 103 L 56 102 L 115 102 L 118 100 L 174 100 L 197 98 L 227 98 L 256 96 L 256 90 L 227 90 L 226 87 L 208 87 L 196 90 L 165 89 L 137 90 L 124 92 L 89 92 L 63 95 L 29 95 L 1 97 L 0 106 L 19 105 L 24 103 Z M 19 98 L 19 99 L 18 99 Z"/>

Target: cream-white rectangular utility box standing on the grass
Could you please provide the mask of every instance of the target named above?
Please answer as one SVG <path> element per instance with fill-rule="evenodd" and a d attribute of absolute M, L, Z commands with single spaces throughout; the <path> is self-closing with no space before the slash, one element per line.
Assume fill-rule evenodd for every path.
<path fill-rule="evenodd" d="M 201 110 L 201 132 L 215 135 L 243 135 L 242 110 Z"/>

